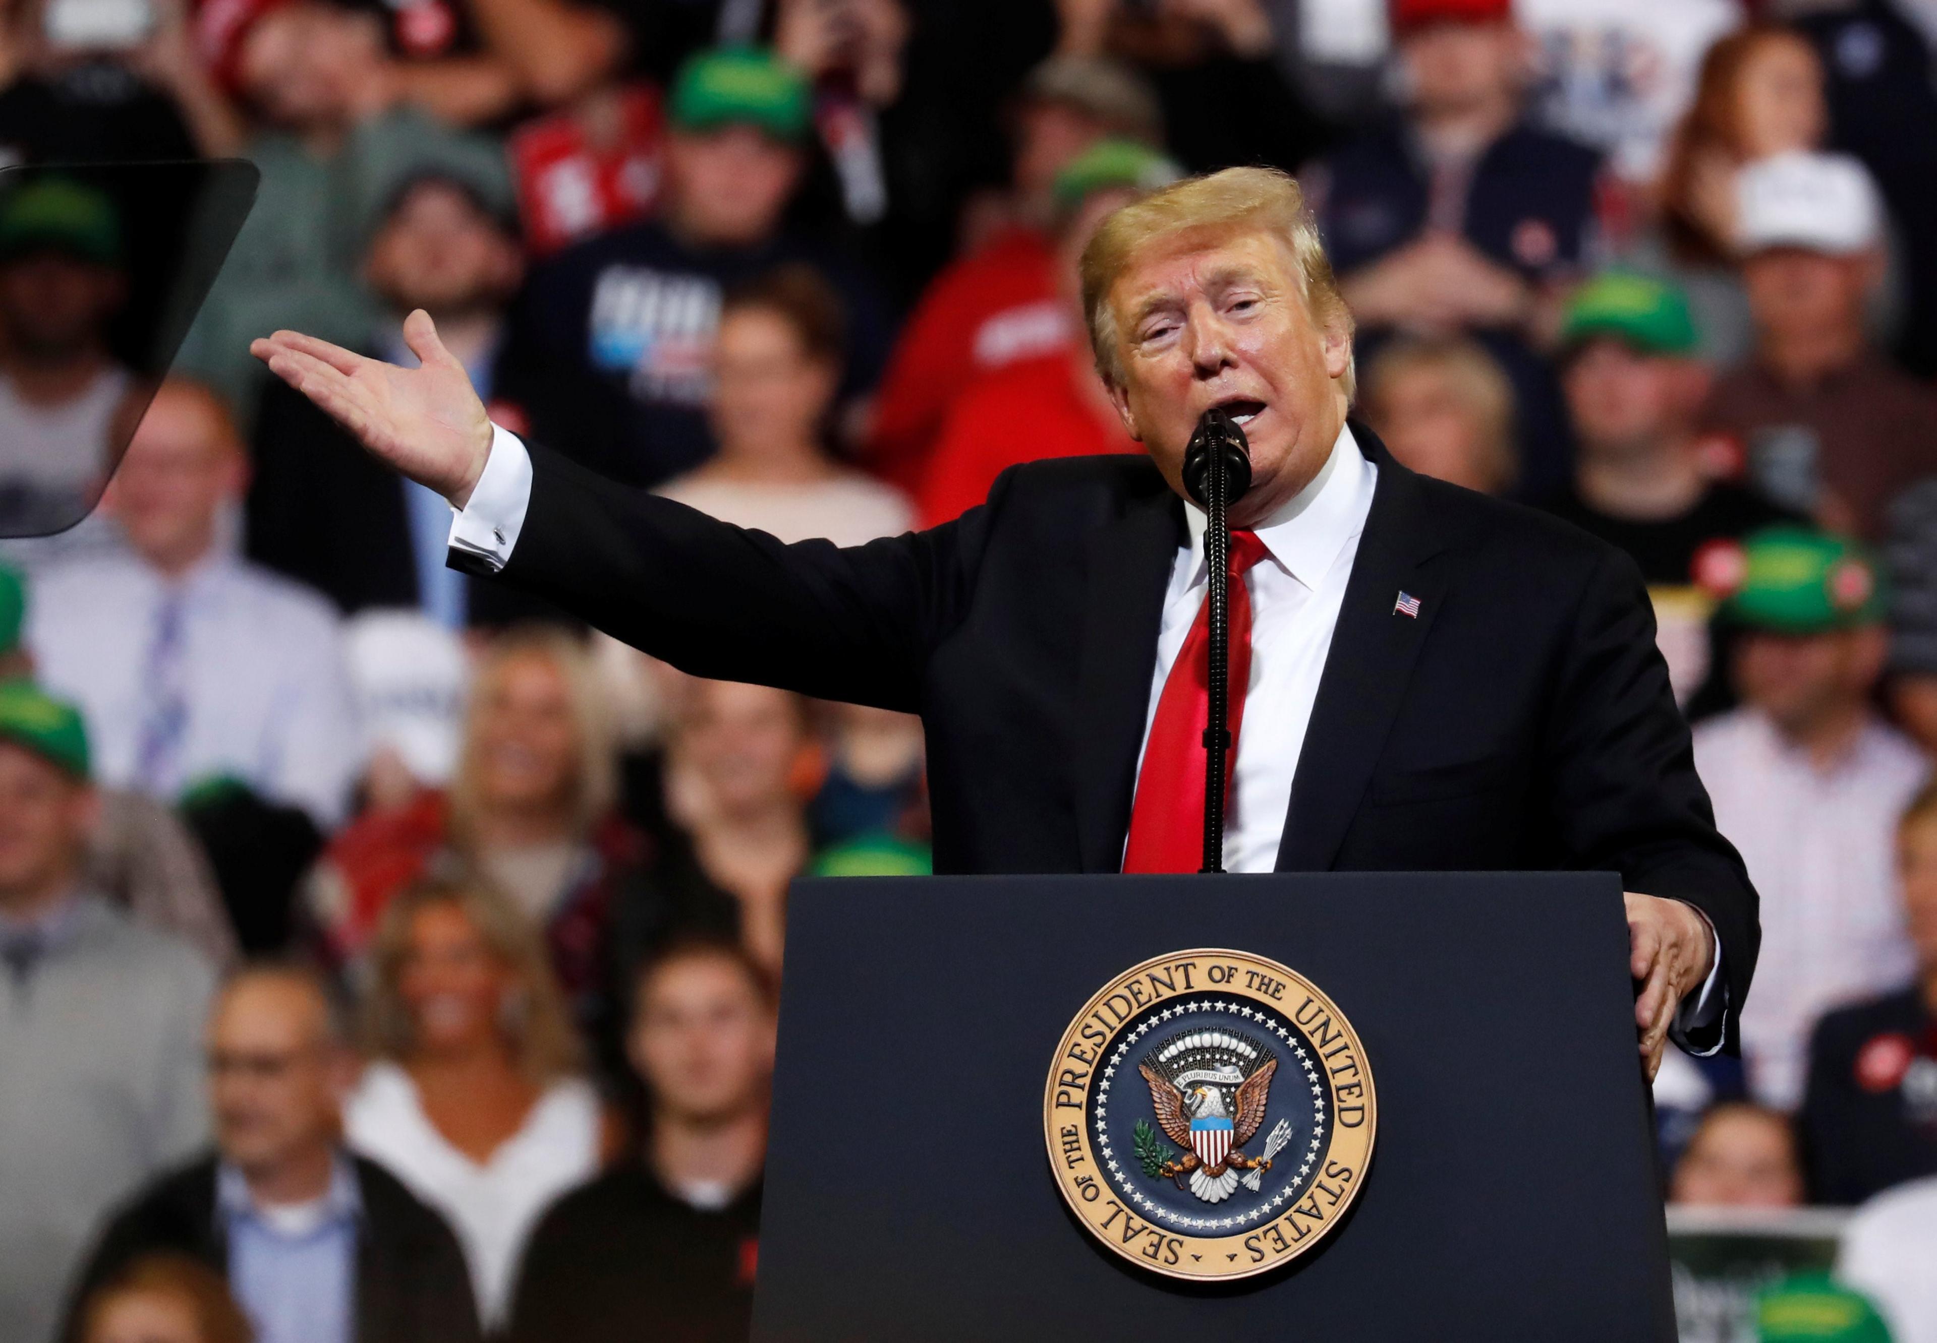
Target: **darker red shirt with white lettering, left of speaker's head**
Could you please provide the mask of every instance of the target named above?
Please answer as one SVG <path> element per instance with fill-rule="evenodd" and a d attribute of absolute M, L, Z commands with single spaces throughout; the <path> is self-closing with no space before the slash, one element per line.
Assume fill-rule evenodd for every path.
<path fill-rule="evenodd" d="M 1063 350 L 1075 319 L 1056 292 L 1056 254 L 1013 228 L 936 277 L 903 327 L 876 401 L 870 464 L 903 490 L 922 482 L 949 406 L 976 379 Z"/>

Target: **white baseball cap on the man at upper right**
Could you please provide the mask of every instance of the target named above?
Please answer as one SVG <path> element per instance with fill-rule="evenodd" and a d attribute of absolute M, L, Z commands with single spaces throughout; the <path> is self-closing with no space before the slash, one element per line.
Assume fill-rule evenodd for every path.
<path fill-rule="evenodd" d="M 1736 246 L 1867 252 L 1883 240 L 1883 201 L 1850 155 L 1784 153 L 1736 174 Z"/>

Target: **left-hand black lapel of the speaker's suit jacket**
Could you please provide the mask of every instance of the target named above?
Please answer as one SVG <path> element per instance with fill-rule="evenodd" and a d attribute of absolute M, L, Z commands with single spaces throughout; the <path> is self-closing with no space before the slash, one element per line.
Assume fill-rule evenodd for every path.
<path fill-rule="evenodd" d="M 1133 497 L 1122 517 L 1091 532 L 1087 546 L 1075 759 L 1085 873 L 1114 873 L 1123 865 L 1164 588 L 1184 536 L 1182 503 L 1154 470 L 1151 478 L 1158 490 Z"/>

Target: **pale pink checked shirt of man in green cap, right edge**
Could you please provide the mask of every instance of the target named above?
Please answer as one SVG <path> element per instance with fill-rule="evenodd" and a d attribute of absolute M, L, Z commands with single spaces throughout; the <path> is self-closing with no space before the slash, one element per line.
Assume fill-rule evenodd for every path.
<path fill-rule="evenodd" d="M 1796 1109 L 1817 1018 L 1912 975 L 1896 819 L 1929 766 L 1873 722 L 1840 761 L 1817 768 L 1765 714 L 1739 708 L 1695 731 L 1695 768 L 1763 896 L 1763 952 L 1741 1008 L 1749 1089 Z"/>

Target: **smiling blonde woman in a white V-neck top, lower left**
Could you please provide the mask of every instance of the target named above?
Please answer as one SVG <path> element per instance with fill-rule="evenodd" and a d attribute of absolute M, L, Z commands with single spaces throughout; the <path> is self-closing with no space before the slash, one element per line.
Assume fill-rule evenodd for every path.
<path fill-rule="evenodd" d="M 599 1099 L 531 921 L 490 886 L 399 894 L 372 971 L 349 1142 L 451 1223 L 490 1328 L 531 1225 L 599 1165 Z"/>

